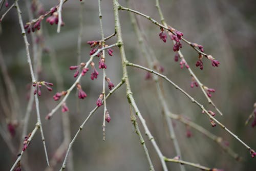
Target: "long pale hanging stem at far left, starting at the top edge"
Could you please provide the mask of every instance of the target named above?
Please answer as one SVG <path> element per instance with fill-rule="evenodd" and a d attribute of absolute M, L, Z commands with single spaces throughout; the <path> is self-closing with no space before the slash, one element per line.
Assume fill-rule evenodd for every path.
<path fill-rule="evenodd" d="M 23 38 L 24 38 L 25 46 L 26 46 L 27 60 L 28 60 L 28 63 L 29 63 L 31 79 L 32 79 L 32 82 L 35 82 L 36 79 L 35 79 L 35 75 L 34 75 L 34 72 L 33 72 L 32 62 L 31 62 L 30 53 L 29 53 L 29 43 L 28 43 L 28 39 L 27 39 L 26 32 L 25 32 L 25 29 L 24 29 L 24 25 L 23 25 L 22 12 L 19 9 L 19 5 L 18 5 L 17 0 L 15 1 L 15 6 L 16 6 L 16 9 L 17 9 L 17 13 L 18 13 L 18 20 L 19 20 L 20 29 L 22 30 L 22 35 L 23 35 Z M 35 104 L 36 104 L 37 123 L 39 124 L 40 132 L 41 132 L 41 139 L 42 139 L 42 144 L 44 145 L 44 149 L 45 149 L 46 161 L 47 161 L 47 164 L 49 165 L 49 159 L 48 159 L 47 149 L 46 149 L 46 144 L 45 144 L 45 137 L 44 137 L 44 133 L 42 131 L 42 126 L 41 126 L 41 119 L 40 119 L 40 113 L 39 113 L 39 100 L 38 100 L 37 94 L 35 94 Z"/>

